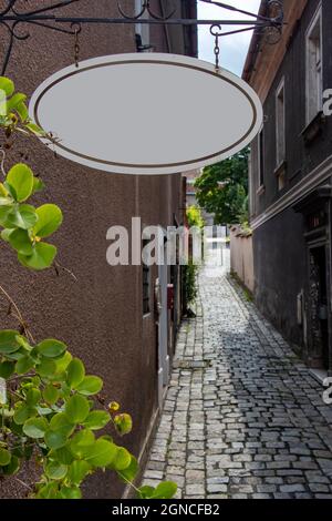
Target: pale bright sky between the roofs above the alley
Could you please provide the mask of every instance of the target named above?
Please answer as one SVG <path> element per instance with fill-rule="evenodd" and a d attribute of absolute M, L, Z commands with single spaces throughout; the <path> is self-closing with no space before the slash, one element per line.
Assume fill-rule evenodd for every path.
<path fill-rule="evenodd" d="M 242 8 L 250 12 L 258 12 L 260 0 L 225 0 L 225 3 Z M 204 2 L 198 2 L 198 18 L 199 19 L 248 19 L 243 14 L 232 11 L 227 11 L 216 6 L 208 6 Z M 237 29 L 237 28 L 231 28 Z M 240 29 L 240 28 L 239 28 Z M 210 35 L 208 25 L 199 25 L 199 58 L 205 61 L 215 62 L 214 45 L 215 40 Z M 220 41 L 220 63 L 225 69 L 241 75 L 247 51 L 249 48 L 252 32 L 245 32 L 230 37 L 221 38 Z"/>

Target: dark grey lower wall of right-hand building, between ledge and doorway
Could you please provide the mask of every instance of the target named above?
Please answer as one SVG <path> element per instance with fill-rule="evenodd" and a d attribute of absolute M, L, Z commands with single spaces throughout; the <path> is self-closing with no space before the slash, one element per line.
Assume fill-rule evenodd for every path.
<path fill-rule="evenodd" d="M 303 343 L 297 323 L 297 296 L 305 280 L 302 215 L 282 212 L 253 232 L 255 296 L 259 308 L 295 345 Z"/>

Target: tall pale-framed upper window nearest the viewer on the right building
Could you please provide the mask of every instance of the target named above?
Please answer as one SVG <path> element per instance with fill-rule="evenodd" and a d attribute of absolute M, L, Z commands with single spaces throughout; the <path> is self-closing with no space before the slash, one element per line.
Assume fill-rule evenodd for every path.
<path fill-rule="evenodd" d="M 322 110 L 322 10 L 317 12 L 307 32 L 307 123 Z"/>

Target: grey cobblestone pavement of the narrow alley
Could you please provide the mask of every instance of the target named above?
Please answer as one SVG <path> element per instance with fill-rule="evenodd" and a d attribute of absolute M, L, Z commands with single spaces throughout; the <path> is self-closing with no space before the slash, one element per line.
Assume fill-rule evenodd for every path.
<path fill-rule="evenodd" d="M 332 498 L 323 388 L 227 276 L 199 276 L 144 477 L 178 498 Z"/>

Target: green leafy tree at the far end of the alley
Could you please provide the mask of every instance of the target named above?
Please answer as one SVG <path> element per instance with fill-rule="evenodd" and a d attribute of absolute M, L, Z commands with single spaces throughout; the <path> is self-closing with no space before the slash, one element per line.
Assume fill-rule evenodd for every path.
<path fill-rule="evenodd" d="M 237 224 L 248 221 L 248 156 L 249 149 L 204 168 L 196 180 L 196 198 L 216 224 Z"/>

